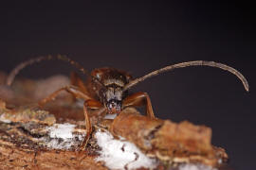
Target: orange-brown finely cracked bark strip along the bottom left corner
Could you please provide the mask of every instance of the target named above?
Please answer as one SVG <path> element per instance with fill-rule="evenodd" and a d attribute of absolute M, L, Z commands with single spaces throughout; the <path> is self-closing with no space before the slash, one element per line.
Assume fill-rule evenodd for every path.
<path fill-rule="evenodd" d="M 79 159 L 78 159 L 79 158 Z M 107 170 L 94 157 L 62 150 L 24 149 L 0 140 L 0 169 Z"/>

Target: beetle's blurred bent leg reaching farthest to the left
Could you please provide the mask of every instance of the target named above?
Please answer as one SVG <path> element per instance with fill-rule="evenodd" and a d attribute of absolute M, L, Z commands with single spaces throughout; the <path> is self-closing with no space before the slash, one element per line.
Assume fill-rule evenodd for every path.
<path fill-rule="evenodd" d="M 92 99 L 89 95 L 82 93 L 80 91 L 79 88 L 77 88 L 76 86 L 65 86 L 57 91 L 55 91 L 54 93 L 49 94 L 46 98 L 40 100 L 38 102 L 39 106 L 43 107 L 47 102 L 49 102 L 50 100 L 54 100 L 55 97 L 61 93 L 62 91 L 66 91 L 67 93 L 71 93 L 72 95 L 74 95 L 76 98 L 82 98 L 83 100 L 88 100 L 88 99 Z"/>

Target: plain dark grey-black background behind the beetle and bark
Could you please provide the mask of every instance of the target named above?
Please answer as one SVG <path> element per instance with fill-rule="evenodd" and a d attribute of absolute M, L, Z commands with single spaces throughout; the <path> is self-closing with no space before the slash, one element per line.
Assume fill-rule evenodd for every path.
<path fill-rule="evenodd" d="M 214 60 L 247 77 L 250 92 L 228 72 L 190 67 L 155 76 L 133 89 L 150 94 L 155 115 L 212 127 L 212 144 L 227 149 L 234 169 L 255 169 L 255 8 L 243 1 L 155 1 L 1 4 L 0 70 L 25 59 L 66 54 L 91 70 L 123 69 L 133 76 L 168 64 Z M 61 61 L 21 76 L 68 74 Z M 253 168 L 254 167 L 254 168 Z"/>

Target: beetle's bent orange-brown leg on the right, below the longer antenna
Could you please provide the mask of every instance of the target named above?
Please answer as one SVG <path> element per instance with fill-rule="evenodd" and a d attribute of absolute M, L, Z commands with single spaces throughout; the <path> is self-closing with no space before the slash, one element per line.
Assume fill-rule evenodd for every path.
<path fill-rule="evenodd" d="M 122 102 L 123 107 L 137 107 L 145 105 L 147 110 L 147 116 L 154 119 L 155 115 L 152 109 L 152 104 L 148 93 L 133 93 L 132 95 L 126 97 Z"/>

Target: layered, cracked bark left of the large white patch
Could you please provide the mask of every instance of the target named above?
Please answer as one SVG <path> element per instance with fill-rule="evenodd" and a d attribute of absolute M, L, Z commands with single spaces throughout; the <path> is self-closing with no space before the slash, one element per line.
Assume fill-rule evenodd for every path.
<path fill-rule="evenodd" d="M 3 102 L 1 106 L 4 106 Z M 73 132 L 77 133 L 74 139 L 65 142 L 73 145 L 56 149 L 56 144 L 64 142 L 49 136 L 49 127 L 54 123 L 52 115 L 44 110 L 20 111 L 5 108 L 0 111 L 0 169 L 107 169 L 94 160 L 94 155 L 74 151 L 82 142 L 82 138 L 78 140 L 75 136 L 83 136 L 83 128 L 74 128 Z M 44 116 L 36 116 L 40 112 Z M 27 121 L 31 116 L 32 120 Z"/>

